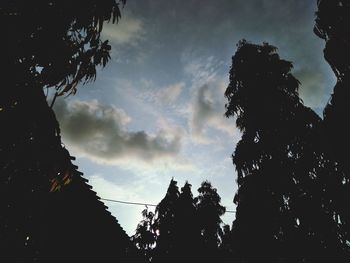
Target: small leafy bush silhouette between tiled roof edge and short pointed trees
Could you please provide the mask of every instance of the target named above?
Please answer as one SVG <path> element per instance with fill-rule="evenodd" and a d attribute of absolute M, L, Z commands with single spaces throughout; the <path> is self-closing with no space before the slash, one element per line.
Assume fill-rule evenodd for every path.
<path fill-rule="evenodd" d="M 156 234 L 153 231 L 154 213 L 148 209 L 142 211 L 143 220 L 137 225 L 136 233 L 131 237 L 132 242 L 142 252 L 147 262 L 152 261 Z"/>

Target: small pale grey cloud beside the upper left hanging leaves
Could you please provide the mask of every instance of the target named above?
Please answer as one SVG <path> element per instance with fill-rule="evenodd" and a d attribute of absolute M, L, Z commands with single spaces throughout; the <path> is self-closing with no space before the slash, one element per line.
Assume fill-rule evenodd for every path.
<path fill-rule="evenodd" d="M 114 45 L 136 45 L 144 38 L 145 29 L 140 19 L 126 14 L 117 25 L 106 24 L 102 34 Z"/>

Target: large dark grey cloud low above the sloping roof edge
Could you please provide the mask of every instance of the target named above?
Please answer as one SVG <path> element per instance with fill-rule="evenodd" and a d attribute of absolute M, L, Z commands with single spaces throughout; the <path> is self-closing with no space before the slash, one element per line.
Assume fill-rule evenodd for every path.
<path fill-rule="evenodd" d="M 175 125 L 161 121 L 155 134 L 130 131 L 131 118 L 123 110 L 97 100 L 59 100 L 55 112 L 64 141 L 80 156 L 97 162 L 152 163 L 175 158 L 181 149 L 183 134 Z"/>

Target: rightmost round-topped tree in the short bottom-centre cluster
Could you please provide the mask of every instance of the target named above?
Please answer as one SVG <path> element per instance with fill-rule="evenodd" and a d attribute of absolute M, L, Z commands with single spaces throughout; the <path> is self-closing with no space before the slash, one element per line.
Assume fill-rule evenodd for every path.
<path fill-rule="evenodd" d="M 221 232 L 221 216 L 226 209 L 220 204 L 221 198 L 216 188 L 208 181 L 202 182 L 198 188 L 197 204 L 198 224 L 203 246 L 202 261 L 214 262 L 219 258 Z"/>

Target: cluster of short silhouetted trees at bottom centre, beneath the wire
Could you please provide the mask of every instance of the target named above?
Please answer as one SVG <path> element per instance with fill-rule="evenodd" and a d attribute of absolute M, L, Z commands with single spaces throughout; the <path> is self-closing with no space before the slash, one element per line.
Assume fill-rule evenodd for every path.
<path fill-rule="evenodd" d="M 144 210 L 132 240 L 149 262 L 220 262 L 224 253 L 231 255 L 230 231 L 221 228 L 220 196 L 208 181 L 198 192 L 194 198 L 188 182 L 179 192 L 172 179 L 155 215 Z"/>

